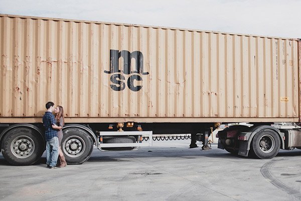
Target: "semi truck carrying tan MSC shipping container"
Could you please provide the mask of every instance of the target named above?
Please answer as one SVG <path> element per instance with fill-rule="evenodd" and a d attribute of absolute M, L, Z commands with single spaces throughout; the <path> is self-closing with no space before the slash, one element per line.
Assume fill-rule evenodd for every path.
<path fill-rule="evenodd" d="M 0 150 L 12 165 L 42 156 L 48 101 L 65 109 L 68 164 L 159 134 L 206 150 L 221 123 L 237 124 L 217 133 L 235 155 L 301 148 L 299 39 L 1 14 L 0 55 Z"/>

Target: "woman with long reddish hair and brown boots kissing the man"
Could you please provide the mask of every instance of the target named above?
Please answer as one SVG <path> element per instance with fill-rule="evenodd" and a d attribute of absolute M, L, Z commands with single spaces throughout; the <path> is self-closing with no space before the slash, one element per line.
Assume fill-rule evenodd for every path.
<path fill-rule="evenodd" d="M 59 137 L 59 158 L 58 158 L 58 163 L 57 163 L 57 167 L 65 167 L 67 165 L 66 163 L 66 159 L 65 156 L 62 152 L 61 149 L 61 142 L 63 139 L 63 131 L 62 128 L 65 124 L 64 121 L 64 109 L 62 106 L 57 106 L 54 109 L 54 113 L 56 114 L 55 119 L 57 121 L 58 127 L 59 127 L 59 131 L 58 131 L 58 137 Z"/>

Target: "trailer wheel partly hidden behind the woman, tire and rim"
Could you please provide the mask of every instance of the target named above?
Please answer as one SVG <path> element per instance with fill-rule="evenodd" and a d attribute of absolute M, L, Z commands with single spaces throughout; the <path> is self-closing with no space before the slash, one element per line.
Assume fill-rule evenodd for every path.
<path fill-rule="evenodd" d="M 86 162 L 92 153 L 93 141 L 91 136 L 80 128 L 63 130 L 62 151 L 67 164 L 76 165 Z"/>

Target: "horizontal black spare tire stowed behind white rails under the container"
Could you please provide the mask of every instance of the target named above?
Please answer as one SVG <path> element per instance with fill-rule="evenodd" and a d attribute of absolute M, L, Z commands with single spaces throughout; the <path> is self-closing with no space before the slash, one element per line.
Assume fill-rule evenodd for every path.
<path fill-rule="evenodd" d="M 134 143 L 136 138 L 134 136 L 114 136 L 114 137 L 103 137 L 103 143 Z M 108 151 L 125 151 L 132 150 L 135 147 L 103 147 L 102 150 Z"/>

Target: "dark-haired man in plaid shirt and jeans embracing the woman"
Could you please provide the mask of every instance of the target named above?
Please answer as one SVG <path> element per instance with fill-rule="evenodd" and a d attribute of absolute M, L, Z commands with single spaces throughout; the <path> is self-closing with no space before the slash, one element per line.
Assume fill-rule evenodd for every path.
<path fill-rule="evenodd" d="M 56 125 L 56 120 L 52 114 L 54 111 L 54 103 L 48 102 L 46 104 L 46 109 L 47 112 L 43 116 L 46 138 L 46 164 L 50 169 L 56 169 L 56 163 L 59 156 L 59 139 L 56 129 L 59 129 L 59 127 Z"/>

